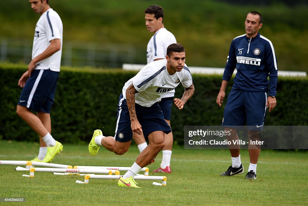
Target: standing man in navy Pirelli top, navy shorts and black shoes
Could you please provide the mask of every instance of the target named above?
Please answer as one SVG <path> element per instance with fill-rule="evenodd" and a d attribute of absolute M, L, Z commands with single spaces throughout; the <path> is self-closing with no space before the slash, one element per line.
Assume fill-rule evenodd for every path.
<path fill-rule="evenodd" d="M 225 97 L 225 88 L 234 68 L 237 68 L 234 84 L 225 106 L 222 126 L 225 126 L 225 131 L 231 134 L 227 135 L 227 140 L 233 142 L 232 140 L 239 139 L 237 129 L 247 124 L 250 165 L 246 179 L 257 178 L 257 161 L 261 148 L 260 145 L 250 144 L 250 141 L 260 140 L 259 131 L 264 124 L 266 108 L 272 111 L 276 106 L 277 59 L 272 42 L 259 34 L 261 27 L 261 14 L 256 11 L 249 12 L 245 21 L 246 34 L 234 38 L 231 43 L 216 100 L 216 103 L 221 106 Z M 244 173 L 240 145 L 229 145 L 229 150 L 232 165 L 227 171 L 221 173 L 221 176 Z"/>

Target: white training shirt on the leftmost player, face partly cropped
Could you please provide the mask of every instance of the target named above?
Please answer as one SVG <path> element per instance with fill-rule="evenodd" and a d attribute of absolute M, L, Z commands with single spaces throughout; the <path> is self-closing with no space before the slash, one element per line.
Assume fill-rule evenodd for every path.
<path fill-rule="evenodd" d="M 51 71 L 60 72 L 63 24 L 59 14 L 53 9 L 48 9 L 41 15 L 35 26 L 32 59 L 43 53 L 53 39 L 60 39 L 61 49 L 50 57 L 39 61 L 34 69 L 50 69 Z"/>

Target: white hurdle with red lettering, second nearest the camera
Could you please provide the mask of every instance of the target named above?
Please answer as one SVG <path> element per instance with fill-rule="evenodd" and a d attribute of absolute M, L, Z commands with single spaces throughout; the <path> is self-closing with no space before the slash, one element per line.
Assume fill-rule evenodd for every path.
<path fill-rule="evenodd" d="M 119 170 L 110 170 L 110 169 L 65 169 L 65 168 L 32 167 L 30 168 L 30 177 L 34 177 L 34 172 L 100 173 L 109 175 L 115 173 L 115 175 L 120 175 Z"/>

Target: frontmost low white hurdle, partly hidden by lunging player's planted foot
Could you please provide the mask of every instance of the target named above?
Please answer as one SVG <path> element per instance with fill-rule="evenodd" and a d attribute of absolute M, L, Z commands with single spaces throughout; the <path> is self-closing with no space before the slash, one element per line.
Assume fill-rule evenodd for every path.
<path fill-rule="evenodd" d="M 84 182 L 77 180 L 76 183 L 81 184 L 88 184 L 90 179 L 105 179 L 105 180 L 119 180 L 122 176 L 121 175 L 92 175 L 86 174 L 84 176 Z M 167 184 L 167 177 L 166 176 L 135 176 L 134 180 L 161 180 L 162 186 L 166 186 Z M 155 184 L 157 185 L 157 184 Z M 160 184 L 159 184 L 160 185 Z"/>

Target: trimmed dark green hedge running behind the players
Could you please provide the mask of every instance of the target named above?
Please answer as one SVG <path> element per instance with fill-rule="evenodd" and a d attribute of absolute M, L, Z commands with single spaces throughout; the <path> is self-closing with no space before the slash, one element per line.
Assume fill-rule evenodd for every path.
<path fill-rule="evenodd" d="M 37 141 L 38 135 L 16 114 L 23 64 L 0 64 L 0 139 Z M 52 134 L 67 143 L 88 142 L 93 130 L 113 136 L 117 103 L 124 83 L 136 72 L 120 69 L 61 68 L 51 111 Z M 193 75 L 195 94 L 179 111 L 172 107 L 172 130 L 178 144 L 184 141 L 185 125 L 221 125 L 223 106 L 216 104 L 220 75 Z M 231 89 L 229 83 L 226 93 Z M 266 125 L 307 125 L 308 79 L 278 78 L 277 107 L 267 114 Z M 184 88 L 176 89 L 180 98 Z"/>

